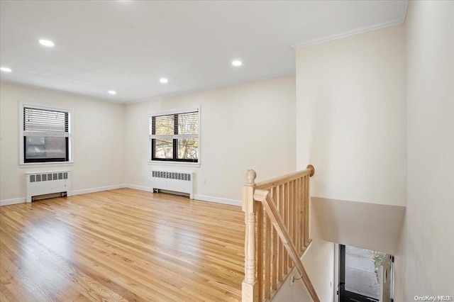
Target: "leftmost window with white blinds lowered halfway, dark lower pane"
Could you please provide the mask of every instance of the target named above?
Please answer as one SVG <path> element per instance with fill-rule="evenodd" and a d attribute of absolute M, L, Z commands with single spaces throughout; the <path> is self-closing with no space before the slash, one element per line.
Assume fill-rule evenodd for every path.
<path fill-rule="evenodd" d="M 23 106 L 23 162 L 70 161 L 70 112 Z"/>

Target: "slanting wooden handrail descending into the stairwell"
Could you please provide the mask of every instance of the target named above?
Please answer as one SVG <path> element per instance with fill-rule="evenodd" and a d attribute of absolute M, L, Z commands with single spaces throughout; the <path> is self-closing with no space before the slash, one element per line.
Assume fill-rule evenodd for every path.
<path fill-rule="evenodd" d="M 303 280 L 306 289 L 309 291 L 311 298 L 315 302 L 319 302 L 320 301 L 319 296 L 317 296 L 317 293 L 314 289 L 314 286 L 312 285 L 311 280 L 309 279 L 306 269 L 304 269 L 304 265 L 301 262 L 301 259 L 299 258 L 298 255 L 297 248 L 295 247 L 292 237 L 290 237 L 287 228 L 284 225 L 282 217 L 279 215 L 279 212 L 277 211 L 275 201 L 270 195 L 270 191 L 264 189 L 255 189 L 254 199 L 255 201 L 260 201 L 263 204 L 265 212 L 270 217 L 271 222 L 275 229 L 277 230 L 277 234 L 281 238 L 285 249 L 289 253 L 290 257 L 292 257 L 292 261 L 295 264 L 295 267 L 297 267 L 297 271 L 301 276 L 301 279 Z"/>

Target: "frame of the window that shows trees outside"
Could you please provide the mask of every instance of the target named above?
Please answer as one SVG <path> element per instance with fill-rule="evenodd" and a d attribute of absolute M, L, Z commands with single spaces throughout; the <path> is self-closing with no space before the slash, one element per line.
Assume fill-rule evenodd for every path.
<path fill-rule="evenodd" d="M 150 113 L 148 115 L 148 145 L 149 145 L 149 150 L 148 150 L 148 162 L 153 163 L 153 164 L 177 164 L 177 165 L 189 165 L 189 166 L 199 166 L 200 165 L 200 158 L 201 158 L 201 144 L 200 144 L 200 128 L 201 128 L 201 112 L 200 112 L 200 106 L 193 106 L 193 107 L 187 107 L 187 108 L 177 108 L 177 109 L 170 109 L 170 110 L 165 110 L 165 111 L 157 111 Z M 198 148 L 197 148 L 197 159 L 196 160 L 185 160 L 185 159 L 179 159 L 177 158 L 178 154 L 178 138 L 172 138 L 172 158 L 157 158 L 155 157 L 155 138 L 152 138 L 151 131 L 150 129 L 152 128 L 153 124 L 153 118 L 157 116 L 171 116 L 175 115 L 178 116 L 179 114 L 184 114 L 184 113 L 192 113 L 192 112 L 197 112 L 198 114 L 198 133 L 197 133 L 197 142 L 198 142 Z M 177 125 L 177 124 L 176 124 Z M 174 135 L 178 135 L 177 133 L 177 127 L 174 128 Z"/>

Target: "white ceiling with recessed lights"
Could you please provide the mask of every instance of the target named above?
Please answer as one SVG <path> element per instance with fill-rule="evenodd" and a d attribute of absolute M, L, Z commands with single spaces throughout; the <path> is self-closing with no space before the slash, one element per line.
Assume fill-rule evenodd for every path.
<path fill-rule="evenodd" d="M 130 103 L 270 79 L 294 74 L 293 47 L 402 23 L 407 4 L 1 0 L 1 81 Z"/>

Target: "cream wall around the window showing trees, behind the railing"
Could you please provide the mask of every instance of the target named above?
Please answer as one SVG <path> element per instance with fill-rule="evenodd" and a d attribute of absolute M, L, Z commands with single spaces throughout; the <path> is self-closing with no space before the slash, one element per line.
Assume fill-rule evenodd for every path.
<path fill-rule="evenodd" d="M 126 183 L 150 188 L 150 171 L 196 172 L 195 198 L 240 201 L 247 169 L 258 181 L 295 171 L 295 79 L 283 77 L 126 107 Z M 148 164 L 148 115 L 201 106 L 200 167 Z M 206 184 L 201 184 L 206 178 Z"/>

